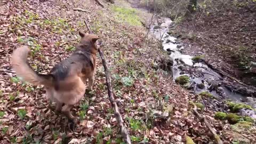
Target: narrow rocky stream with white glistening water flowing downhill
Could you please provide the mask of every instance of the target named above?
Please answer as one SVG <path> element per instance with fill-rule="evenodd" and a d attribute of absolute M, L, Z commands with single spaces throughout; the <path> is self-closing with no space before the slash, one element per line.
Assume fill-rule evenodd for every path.
<path fill-rule="evenodd" d="M 172 20 L 169 18 L 155 18 L 150 25 L 150 34 L 162 41 L 163 50 L 169 53 L 173 61 L 172 77 L 173 81 L 181 75 L 187 75 L 190 78 L 187 89 L 194 93 L 207 91 L 220 99 L 230 99 L 234 102 L 243 102 L 256 108 L 255 98 L 246 97 L 241 93 L 233 92 L 230 86 L 223 84 L 225 79 L 214 69 L 210 68 L 205 61 L 192 60 L 191 55 L 182 54 L 182 49 L 186 49 L 177 41 L 177 38 L 168 34 L 169 29 L 173 27 Z M 256 112 L 250 109 L 241 109 L 240 114 L 256 118 Z"/>

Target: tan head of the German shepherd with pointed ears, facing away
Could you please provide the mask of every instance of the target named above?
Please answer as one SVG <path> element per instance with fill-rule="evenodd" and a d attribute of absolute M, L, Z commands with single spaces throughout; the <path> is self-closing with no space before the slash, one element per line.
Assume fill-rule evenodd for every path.
<path fill-rule="evenodd" d="M 100 38 L 97 35 L 94 34 L 85 34 L 82 31 L 78 31 L 79 35 L 81 36 L 80 44 L 92 44 L 95 49 L 98 50 L 97 46 L 95 45 L 95 42 Z"/>

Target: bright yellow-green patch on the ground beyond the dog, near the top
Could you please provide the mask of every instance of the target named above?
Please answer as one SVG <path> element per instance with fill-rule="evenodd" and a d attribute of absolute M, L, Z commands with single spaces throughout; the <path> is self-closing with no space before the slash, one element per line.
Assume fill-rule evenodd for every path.
<path fill-rule="evenodd" d="M 141 26 L 140 18 L 135 9 L 127 9 L 119 6 L 111 6 L 111 10 L 116 13 L 116 19 L 119 22 L 127 22 L 132 26 Z"/>

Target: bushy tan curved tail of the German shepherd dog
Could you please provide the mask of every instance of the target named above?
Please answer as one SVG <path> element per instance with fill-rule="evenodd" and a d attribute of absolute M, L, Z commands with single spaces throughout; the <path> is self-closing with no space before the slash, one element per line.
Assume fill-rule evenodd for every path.
<path fill-rule="evenodd" d="M 23 81 L 27 81 L 34 85 L 53 85 L 53 76 L 51 74 L 38 74 L 27 63 L 27 56 L 29 52 L 30 50 L 28 46 L 21 46 L 14 50 L 12 54 L 12 65 L 17 76 L 21 77 Z"/>

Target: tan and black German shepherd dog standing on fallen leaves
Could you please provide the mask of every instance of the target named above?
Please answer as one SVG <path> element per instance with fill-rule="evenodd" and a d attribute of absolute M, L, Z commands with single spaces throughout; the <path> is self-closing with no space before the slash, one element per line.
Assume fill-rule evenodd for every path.
<path fill-rule="evenodd" d="M 18 47 L 12 54 L 12 65 L 17 76 L 31 84 L 44 85 L 47 97 L 56 102 L 57 114 L 62 112 L 73 124 L 76 123 L 76 119 L 70 109 L 83 98 L 87 79 L 89 91 L 92 90 L 98 52 L 95 42 L 99 39 L 97 35 L 81 31 L 79 35 L 81 42 L 76 45 L 73 54 L 55 65 L 49 74 L 38 74 L 27 63 L 30 52 L 27 46 Z"/>

